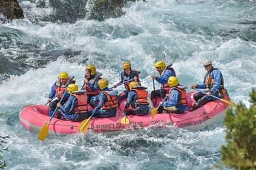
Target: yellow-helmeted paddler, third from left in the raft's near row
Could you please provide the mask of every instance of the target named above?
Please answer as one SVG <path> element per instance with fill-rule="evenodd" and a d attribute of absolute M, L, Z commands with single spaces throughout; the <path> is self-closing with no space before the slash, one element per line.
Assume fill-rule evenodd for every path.
<path fill-rule="evenodd" d="M 124 113 L 126 115 L 146 115 L 149 113 L 146 87 L 139 86 L 137 81 L 129 84 L 129 93 L 125 103 Z"/>

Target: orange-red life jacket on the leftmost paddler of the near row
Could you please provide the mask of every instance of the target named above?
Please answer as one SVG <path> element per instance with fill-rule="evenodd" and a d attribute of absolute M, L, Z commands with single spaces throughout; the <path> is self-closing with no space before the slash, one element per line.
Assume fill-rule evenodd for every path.
<path fill-rule="evenodd" d="M 75 96 L 75 98 L 78 100 L 77 106 L 73 109 L 73 113 L 78 114 L 78 113 L 87 113 L 88 111 L 88 106 L 87 106 L 87 94 L 86 92 L 80 93 L 75 92 L 72 94 L 72 96 Z"/>

